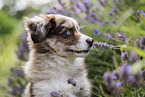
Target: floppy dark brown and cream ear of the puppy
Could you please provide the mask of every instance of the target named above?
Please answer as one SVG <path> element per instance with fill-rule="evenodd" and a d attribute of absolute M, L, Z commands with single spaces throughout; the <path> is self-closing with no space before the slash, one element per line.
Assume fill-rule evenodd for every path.
<path fill-rule="evenodd" d="M 37 21 L 37 18 L 40 19 Z M 36 22 L 37 21 L 37 22 Z M 25 29 L 30 31 L 31 39 L 34 43 L 42 42 L 56 27 L 55 17 L 34 17 L 29 19 L 24 17 Z"/>

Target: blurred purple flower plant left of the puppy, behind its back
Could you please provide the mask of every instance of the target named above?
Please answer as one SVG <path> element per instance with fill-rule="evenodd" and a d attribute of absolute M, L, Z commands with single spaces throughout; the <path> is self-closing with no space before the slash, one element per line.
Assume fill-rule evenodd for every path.
<path fill-rule="evenodd" d="M 27 80 L 22 70 L 22 66 L 27 60 L 26 56 L 29 51 L 27 47 L 26 34 L 20 35 L 19 39 L 21 42 L 18 46 L 18 51 L 16 51 L 19 62 L 16 63 L 15 67 L 10 68 L 11 74 L 8 78 L 8 86 L 10 87 L 8 93 L 14 97 L 21 97 L 27 84 Z"/>

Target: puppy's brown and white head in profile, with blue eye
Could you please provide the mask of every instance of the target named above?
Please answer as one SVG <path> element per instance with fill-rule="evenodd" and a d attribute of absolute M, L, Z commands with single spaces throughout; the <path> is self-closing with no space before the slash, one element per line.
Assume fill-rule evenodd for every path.
<path fill-rule="evenodd" d="M 93 40 L 81 34 L 76 20 L 58 15 L 40 15 L 25 18 L 25 28 L 29 31 L 30 49 L 38 53 L 52 52 L 59 56 L 84 56 L 89 52 Z"/>

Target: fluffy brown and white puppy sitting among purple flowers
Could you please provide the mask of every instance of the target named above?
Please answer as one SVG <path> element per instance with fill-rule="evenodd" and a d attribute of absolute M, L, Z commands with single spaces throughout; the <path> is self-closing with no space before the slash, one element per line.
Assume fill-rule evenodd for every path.
<path fill-rule="evenodd" d="M 29 83 L 23 97 L 53 97 L 52 91 L 63 97 L 90 97 L 91 91 L 84 65 L 93 39 L 81 34 L 79 25 L 71 17 L 41 14 L 24 18 L 30 49 L 24 72 Z M 72 79 L 73 86 L 67 82 Z M 56 96 L 58 97 L 58 96 Z"/>

